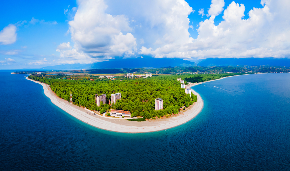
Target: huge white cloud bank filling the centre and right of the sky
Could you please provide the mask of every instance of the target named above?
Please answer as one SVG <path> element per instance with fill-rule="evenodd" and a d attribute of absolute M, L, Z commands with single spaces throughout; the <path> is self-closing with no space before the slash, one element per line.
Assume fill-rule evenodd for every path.
<path fill-rule="evenodd" d="M 209 18 L 198 24 L 194 39 L 188 32 L 193 28 L 188 16 L 194 10 L 184 0 L 79 0 L 68 22 L 74 46 L 62 43 L 57 51 L 70 62 L 143 55 L 183 59 L 289 56 L 290 1 L 262 0 L 263 8 L 253 8 L 246 14 L 249 19 L 243 19 L 243 4 L 224 4 L 224 0 L 212 0 L 208 14 L 203 8 L 198 11 Z M 218 15 L 224 21 L 215 24 Z"/>

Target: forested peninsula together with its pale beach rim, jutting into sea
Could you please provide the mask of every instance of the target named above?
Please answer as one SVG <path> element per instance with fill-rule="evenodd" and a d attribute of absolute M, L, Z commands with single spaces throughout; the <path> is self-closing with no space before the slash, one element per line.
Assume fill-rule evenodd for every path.
<path fill-rule="evenodd" d="M 138 74 L 137 74 L 138 75 Z M 203 74 L 203 79 L 214 80 L 229 74 Z M 135 75 L 136 76 L 136 75 Z M 26 79 L 43 86 L 44 94 L 57 105 L 75 118 L 94 127 L 124 133 L 144 133 L 165 130 L 183 124 L 194 118 L 203 107 L 200 95 L 190 87 L 200 83 L 186 82 L 194 80 L 195 74 L 155 75 L 152 78 L 128 78 L 125 76 L 49 76 L 45 73 L 35 73 Z M 30 79 L 32 78 L 32 79 Z M 108 79 L 105 79 L 108 78 Z M 113 78 L 115 78 L 113 80 Z M 187 84 L 187 85 L 186 85 Z M 70 96 L 70 92 L 73 95 Z M 120 93 L 119 93 L 120 92 Z M 97 104 L 95 94 L 122 94 L 112 105 L 107 97 L 104 103 Z M 112 96 L 113 97 L 113 96 Z M 160 110 L 155 107 L 156 100 L 164 100 Z M 72 103 L 70 103 L 72 102 Z M 100 102 L 100 101 L 99 101 Z M 113 102 L 113 99 L 111 99 Z M 87 109 L 86 109 L 86 108 Z M 147 120 L 134 122 L 128 117 L 108 117 L 110 108 L 130 111 L 131 117 Z M 90 109 L 90 110 L 89 110 Z M 104 113 L 104 114 L 103 114 Z M 128 116 L 128 115 L 127 115 Z M 129 117 L 129 118 L 131 118 Z"/>

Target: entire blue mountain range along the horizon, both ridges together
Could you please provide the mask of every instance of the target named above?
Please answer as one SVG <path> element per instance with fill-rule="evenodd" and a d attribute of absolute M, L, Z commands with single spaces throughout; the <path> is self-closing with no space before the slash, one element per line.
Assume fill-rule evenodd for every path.
<path fill-rule="evenodd" d="M 282 66 L 289 67 L 288 58 L 207 58 L 196 64 L 178 58 L 126 58 L 116 59 L 93 64 L 64 64 L 42 67 L 39 69 L 122 69 L 122 68 L 161 68 L 161 67 L 210 67 L 210 66 Z"/>

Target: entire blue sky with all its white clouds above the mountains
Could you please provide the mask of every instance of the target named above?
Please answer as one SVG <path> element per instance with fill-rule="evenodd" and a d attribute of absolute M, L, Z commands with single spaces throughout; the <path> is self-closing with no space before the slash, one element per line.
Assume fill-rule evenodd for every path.
<path fill-rule="evenodd" d="M 3 1 L 0 69 L 116 58 L 289 58 L 289 0 Z"/>

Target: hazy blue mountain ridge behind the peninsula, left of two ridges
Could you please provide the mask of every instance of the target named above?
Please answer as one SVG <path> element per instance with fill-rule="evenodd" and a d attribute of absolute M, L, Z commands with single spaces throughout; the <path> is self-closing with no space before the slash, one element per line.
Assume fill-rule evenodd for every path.
<path fill-rule="evenodd" d="M 94 64 L 64 64 L 42 67 L 41 69 L 107 69 L 107 68 L 161 68 L 161 67 L 193 67 L 195 62 L 175 58 L 126 58 L 116 59 Z"/>

